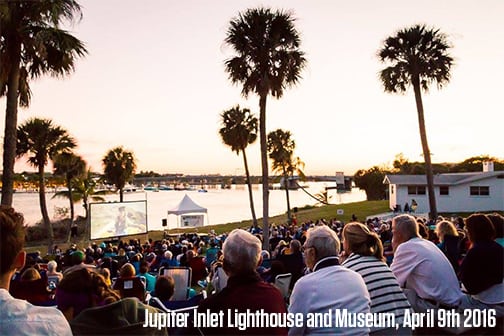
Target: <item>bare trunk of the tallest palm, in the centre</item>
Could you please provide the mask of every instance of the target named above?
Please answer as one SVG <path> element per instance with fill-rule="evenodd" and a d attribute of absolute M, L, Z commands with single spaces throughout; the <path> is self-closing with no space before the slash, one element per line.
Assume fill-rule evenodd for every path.
<path fill-rule="evenodd" d="M 263 250 L 269 250 L 269 186 L 268 186 L 268 147 L 266 144 L 266 98 L 262 93 L 259 98 L 259 137 L 261 141 L 261 171 L 263 188 Z"/>

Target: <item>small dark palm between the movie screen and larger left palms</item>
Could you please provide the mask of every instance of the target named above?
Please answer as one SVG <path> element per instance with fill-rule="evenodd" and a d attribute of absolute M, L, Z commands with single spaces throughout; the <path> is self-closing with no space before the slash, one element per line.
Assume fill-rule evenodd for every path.
<path fill-rule="evenodd" d="M 64 176 L 68 201 L 70 202 L 70 224 L 68 226 L 68 238 L 70 241 L 71 229 L 75 217 L 74 200 L 72 197 L 73 179 L 84 174 L 86 169 L 86 161 L 82 157 L 74 153 L 61 153 L 54 160 L 54 175 Z"/>

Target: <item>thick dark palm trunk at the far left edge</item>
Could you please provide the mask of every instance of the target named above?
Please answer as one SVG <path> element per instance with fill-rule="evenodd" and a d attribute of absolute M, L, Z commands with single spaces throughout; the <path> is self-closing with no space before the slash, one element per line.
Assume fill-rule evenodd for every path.
<path fill-rule="evenodd" d="M 21 46 L 18 48 L 21 49 Z M 20 51 L 19 51 L 20 52 Z M 3 174 L 2 174 L 2 205 L 12 206 L 14 194 L 14 163 L 16 161 L 17 142 L 17 110 L 19 91 L 19 52 L 13 53 L 14 59 L 7 83 L 7 107 L 5 109 Z"/>

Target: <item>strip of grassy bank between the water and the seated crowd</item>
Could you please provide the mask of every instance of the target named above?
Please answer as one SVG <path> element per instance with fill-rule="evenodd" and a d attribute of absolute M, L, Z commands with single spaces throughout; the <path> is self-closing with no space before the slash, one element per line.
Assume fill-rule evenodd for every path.
<path fill-rule="evenodd" d="M 342 214 L 338 215 L 338 210 L 342 210 Z M 375 214 L 383 213 L 389 211 L 388 201 L 362 201 L 347 204 L 336 204 L 336 205 L 323 205 L 323 206 L 306 206 L 298 209 L 296 213 L 298 223 L 307 222 L 310 220 L 316 221 L 318 219 L 331 219 L 335 218 L 340 221 L 349 222 L 352 214 L 355 214 L 359 220 L 365 220 L 367 216 L 372 216 Z M 341 213 L 341 211 L 340 211 Z M 282 214 L 278 216 L 273 216 L 269 218 L 270 224 L 284 224 L 287 222 L 287 215 Z M 262 219 L 258 219 L 258 224 L 261 226 Z M 177 228 L 167 230 L 168 234 L 178 234 L 183 232 L 199 232 L 199 233 L 209 233 L 210 230 L 215 230 L 217 234 L 224 232 L 230 232 L 237 228 L 249 228 L 252 226 L 252 220 L 245 220 L 240 222 L 225 223 L 220 225 L 208 225 L 196 228 Z M 163 239 L 163 231 L 149 231 L 148 234 L 129 236 L 131 239 L 140 239 L 145 241 L 149 238 L 152 240 Z M 101 242 L 102 240 L 100 240 Z M 76 241 L 73 240 L 79 247 L 88 246 L 91 241 L 88 237 L 79 237 Z M 56 241 L 55 242 L 62 250 L 68 248 L 69 244 Z M 26 244 L 27 252 L 34 251 L 46 251 L 47 241 L 46 240 L 35 240 L 30 241 Z"/>

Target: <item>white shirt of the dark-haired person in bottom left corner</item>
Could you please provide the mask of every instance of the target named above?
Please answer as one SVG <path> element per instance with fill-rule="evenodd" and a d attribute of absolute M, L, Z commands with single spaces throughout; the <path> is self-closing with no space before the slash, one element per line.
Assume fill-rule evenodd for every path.
<path fill-rule="evenodd" d="M 38 307 L 0 288 L 0 335 L 72 335 L 56 307 Z"/>

